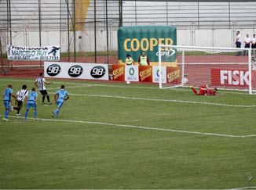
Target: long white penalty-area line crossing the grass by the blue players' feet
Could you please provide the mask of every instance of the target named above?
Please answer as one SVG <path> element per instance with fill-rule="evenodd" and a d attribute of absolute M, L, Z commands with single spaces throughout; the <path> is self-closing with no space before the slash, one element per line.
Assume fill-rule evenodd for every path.
<path fill-rule="evenodd" d="M 2 115 L 0 115 L 0 116 L 2 117 Z M 9 116 L 9 117 L 14 117 L 14 116 Z M 14 117 L 14 118 L 20 118 L 20 117 Z M 34 120 L 34 119 L 29 117 L 28 120 Z M 59 119 L 46 119 L 46 118 L 38 118 L 37 120 L 51 121 L 51 122 L 54 121 L 54 122 L 66 122 L 66 123 L 79 123 L 79 124 L 95 124 L 95 125 L 105 125 L 105 126 L 111 126 L 111 127 L 128 127 L 128 128 L 138 128 L 138 129 L 152 130 L 152 131 L 170 131 L 170 132 L 175 132 L 175 133 L 201 134 L 201 135 L 229 137 L 229 138 L 256 137 L 256 134 L 232 135 L 232 134 L 203 133 L 203 132 L 197 132 L 197 131 L 182 131 L 182 130 L 166 129 L 166 128 L 158 128 L 158 127 L 144 127 L 144 126 L 126 125 L 126 124 L 111 124 L 111 123 L 86 121 L 86 120 L 59 120 Z M 4 121 L 2 121 L 2 122 L 4 122 Z"/>

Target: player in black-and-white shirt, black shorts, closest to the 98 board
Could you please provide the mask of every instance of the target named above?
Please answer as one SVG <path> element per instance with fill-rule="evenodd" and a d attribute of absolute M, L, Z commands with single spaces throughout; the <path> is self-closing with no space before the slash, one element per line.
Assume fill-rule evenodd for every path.
<path fill-rule="evenodd" d="M 38 87 L 38 90 L 41 92 L 42 94 L 42 104 L 45 104 L 45 99 L 47 97 L 47 101 L 49 104 L 52 104 L 49 101 L 49 95 L 48 92 L 46 90 L 46 84 L 53 84 L 52 82 L 46 82 L 45 77 L 43 77 L 43 73 L 39 73 L 39 77 L 35 79 L 35 86 Z"/>

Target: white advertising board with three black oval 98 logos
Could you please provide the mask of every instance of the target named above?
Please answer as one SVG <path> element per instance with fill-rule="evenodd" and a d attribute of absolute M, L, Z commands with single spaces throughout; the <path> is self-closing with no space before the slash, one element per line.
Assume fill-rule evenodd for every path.
<path fill-rule="evenodd" d="M 108 64 L 45 62 L 45 77 L 108 80 Z"/>

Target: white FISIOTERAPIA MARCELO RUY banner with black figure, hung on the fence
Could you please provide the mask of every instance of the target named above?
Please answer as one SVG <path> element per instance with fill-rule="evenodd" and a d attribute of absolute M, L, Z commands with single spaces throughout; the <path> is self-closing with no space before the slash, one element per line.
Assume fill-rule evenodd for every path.
<path fill-rule="evenodd" d="M 8 60 L 60 61 L 60 45 L 25 47 L 8 45 Z"/>

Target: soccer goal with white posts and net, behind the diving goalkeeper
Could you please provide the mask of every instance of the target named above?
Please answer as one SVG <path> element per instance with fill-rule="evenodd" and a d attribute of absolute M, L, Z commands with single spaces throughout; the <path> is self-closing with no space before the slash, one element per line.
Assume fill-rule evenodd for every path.
<path fill-rule="evenodd" d="M 166 52 L 175 52 L 171 56 Z M 256 59 L 251 48 L 159 45 L 159 88 L 182 86 L 256 90 Z M 166 63 L 175 62 L 174 66 Z M 165 73 L 165 76 L 163 76 Z M 163 82 L 166 81 L 166 82 Z"/>

